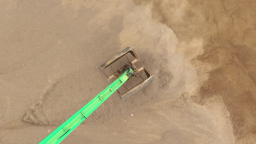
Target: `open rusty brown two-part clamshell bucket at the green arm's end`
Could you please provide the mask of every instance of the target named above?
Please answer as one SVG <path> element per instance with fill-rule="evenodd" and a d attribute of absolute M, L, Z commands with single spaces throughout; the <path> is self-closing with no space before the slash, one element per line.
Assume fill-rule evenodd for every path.
<path fill-rule="evenodd" d="M 154 80 L 153 74 L 150 73 L 144 65 L 142 65 L 141 68 L 136 67 L 135 63 L 138 61 L 139 58 L 136 52 L 133 47 L 129 46 L 99 67 L 102 73 L 107 77 L 108 81 L 113 81 L 113 78 L 119 77 L 128 67 L 132 68 L 134 71 L 132 76 L 117 90 L 122 100 Z"/>

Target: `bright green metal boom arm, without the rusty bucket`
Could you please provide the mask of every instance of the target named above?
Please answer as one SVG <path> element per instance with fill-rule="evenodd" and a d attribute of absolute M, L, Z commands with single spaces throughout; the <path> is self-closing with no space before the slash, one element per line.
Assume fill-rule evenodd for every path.
<path fill-rule="evenodd" d="M 108 99 L 110 95 L 117 91 L 117 89 L 129 79 L 132 73 L 133 70 L 131 68 L 125 71 L 125 73 L 122 74 L 117 80 L 104 89 L 82 109 L 76 112 L 72 117 L 67 119 L 67 121 L 61 124 L 59 128 L 55 129 L 53 133 L 45 137 L 45 139 L 39 144 L 60 143 L 63 139 L 65 139 L 65 137 L 68 136 L 68 134 L 77 128 L 80 123 L 88 118 L 88 116 L 91 115 L 91 113 L 94 112 L 98 106 Z"/>

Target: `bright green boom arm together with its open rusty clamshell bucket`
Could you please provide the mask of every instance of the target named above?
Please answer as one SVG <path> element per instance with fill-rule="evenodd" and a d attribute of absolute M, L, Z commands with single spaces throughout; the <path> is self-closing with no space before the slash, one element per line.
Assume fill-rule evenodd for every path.
<path fill-rule="evenodd" d="M 141 68 L 137 69 L 135 63 L 138 61 L 139 59 L 133 48 L 127 47 L 125 50 L 112 57 L 109 61 L 103 63 L 100 66 L 100 69 L 103 74 L 107 76 L 107 79 L 113 80 L 113 77 L 117 77 L 117 79 L 88 104 L 83 106 L 82 109 L 74 113 L 72 117 L 68 118 L 66 122 L 60 125 L 60 127 L 46 136 L 39 144 L 60 143 L 115 91 L 118 91 L 120 98 L 124 100 L 142 87 L 148 85 L 154 77 L 143 65 Z M 125 83 L 128 85 L 125 86 Z"/>

